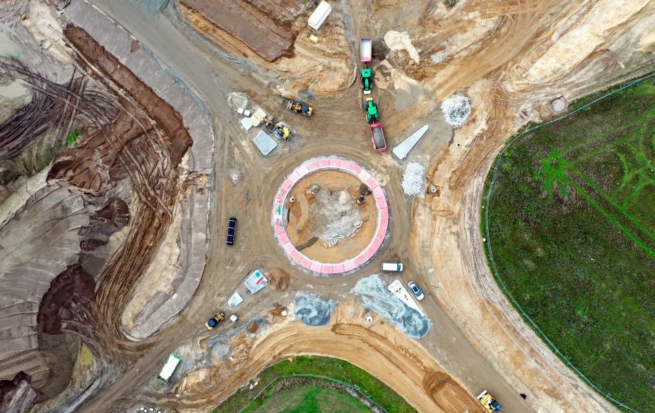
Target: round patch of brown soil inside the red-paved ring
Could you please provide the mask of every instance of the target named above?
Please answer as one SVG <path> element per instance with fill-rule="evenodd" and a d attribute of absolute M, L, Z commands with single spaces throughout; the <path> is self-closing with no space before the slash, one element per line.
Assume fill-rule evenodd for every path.
<path fill-rule="evenodd" d="M 301 253 L 312 260 L 331 263 L 349 260 L 366 248 L 377 228 L 378 211 L 370 195 L 363 204 L 356 203 L 361 185 L 359 178 L 336 169 L 310 173 L 294 185 L 285 204 L 289 211 L 286 229 Z M 316 187 L 318 192 L 313 193 Z M 296 202 L 290 198 L 296 198 Z M 361 231 L 348 237 L 355 229 L 354 224 L 361 221 Z M 324 244 L 331 242 L 335 233 L 345 238 L 325 248 Z"/>

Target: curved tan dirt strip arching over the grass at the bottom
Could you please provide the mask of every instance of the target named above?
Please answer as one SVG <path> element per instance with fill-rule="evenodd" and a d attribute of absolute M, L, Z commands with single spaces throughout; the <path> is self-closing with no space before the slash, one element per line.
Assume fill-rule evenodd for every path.
<path fill-rule="evenodd" d="M 193 411 L 225 399 L 269 364 L 296 354 L 316 354 L 344 359 L 374 374 L 420 412 L 483 412 L 474 397 L 418 343 L 407 342 L 399 330 L 381 319 L 370 326 L 363 325 L 364 319 L 359 306 L 341 304 L 327 326 L 309 327 L 282 319 L 254 338 L 239 335 L 230 345 L 250 350 L 247 354 L 235 351 L 232 359 L 223 361 L 225 376 L 213 377 L 212 385 L 186 379 L 182 385 L 190 394 L 164 396 L 159 405 Z"/>

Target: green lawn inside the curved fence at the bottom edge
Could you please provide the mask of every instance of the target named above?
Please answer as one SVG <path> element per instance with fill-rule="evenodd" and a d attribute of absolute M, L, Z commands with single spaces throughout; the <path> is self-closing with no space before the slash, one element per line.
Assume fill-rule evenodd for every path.
<path fill-rule="evenodd" d="M 251 413 L 367 413 L 370 411 L 366 405 L 350 395 L 316 385 L 283 390 L 266 399 L 259 407 L 245 410 Z"/>

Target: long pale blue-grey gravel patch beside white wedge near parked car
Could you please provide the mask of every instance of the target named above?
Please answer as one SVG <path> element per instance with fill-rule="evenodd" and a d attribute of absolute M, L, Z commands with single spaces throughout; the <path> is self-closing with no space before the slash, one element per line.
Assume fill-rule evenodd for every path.
<path fill-rule="evenodd" d="M 432 321 L 421 317 L 418 311 L 407 307 L 401 299 L 390 293 L 382 284 L 379 275 L 374 274 L 360 279 L 352 293 L 361 296 L 364 306 L 389 319 L 406 335 L 414 339 L 425 337 L 432 328 Z"/>

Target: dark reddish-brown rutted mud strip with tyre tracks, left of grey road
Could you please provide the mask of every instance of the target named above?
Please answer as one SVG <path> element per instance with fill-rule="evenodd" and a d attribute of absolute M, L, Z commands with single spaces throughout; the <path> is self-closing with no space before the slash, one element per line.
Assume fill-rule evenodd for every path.
<path fill-rule="evenodd" d="M 114 94 L 119 114 L 108 125 L 98 125 L 99 131 L 79 147 L 58 156 L 50 178 L 84 190 L 95 182 L 86 178 L 91 173 L 101 180 L 100 191 L 127 173 L 140 194 L 130 231 L 97 277 L 94 297 L 79 306 L 66 331 L 90 343 L 103 364 L 125 368 L 153 341 L 125 339 L 121 314 L 168 230 L 181 186 L 179 164 L 192 140 L 181 116 L 84 30 L 69 25 L 64 34 L 78 54 L 79 68 Z M 90 162 L 98 157 L 104 163 Z"/>

